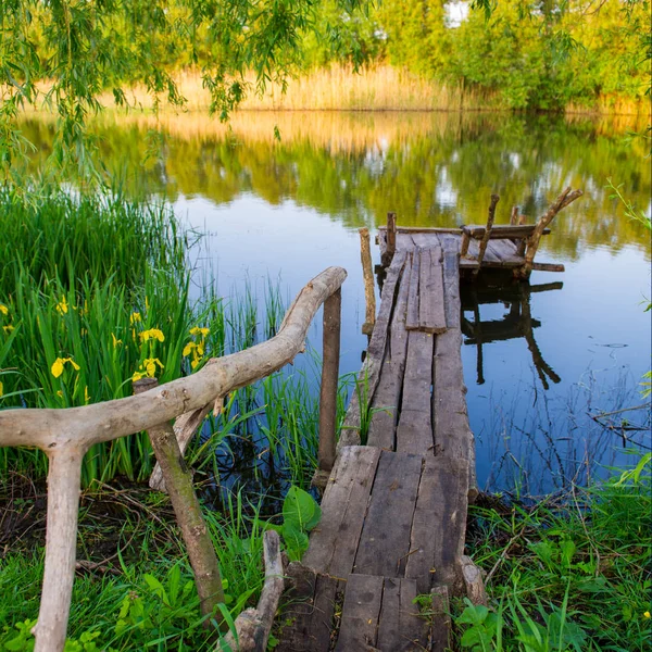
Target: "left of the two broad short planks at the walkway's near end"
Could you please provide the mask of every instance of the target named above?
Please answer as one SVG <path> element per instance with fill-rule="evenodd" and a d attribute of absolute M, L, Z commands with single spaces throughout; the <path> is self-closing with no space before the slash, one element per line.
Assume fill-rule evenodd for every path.
<path fill-rule="evenodd" d="M 335 652 L 376 649 L 383 577 L 349 575 Z"/>

